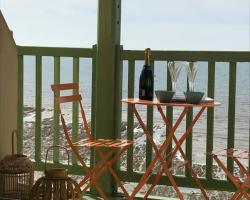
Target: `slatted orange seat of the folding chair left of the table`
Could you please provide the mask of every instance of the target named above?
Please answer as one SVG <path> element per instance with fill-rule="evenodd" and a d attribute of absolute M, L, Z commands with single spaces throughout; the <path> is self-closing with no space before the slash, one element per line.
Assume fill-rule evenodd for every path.
<path fill-rule="evenodd" d="M 106 147 L 106 148 L 121 148 L 130 146 L 133 142 L 131 140 L 111 140 L 111 139 L 83 139 L 74 142 L 73 145 L 77 147 Z M 69 146 L 68 144 L 66 146 Z"/>

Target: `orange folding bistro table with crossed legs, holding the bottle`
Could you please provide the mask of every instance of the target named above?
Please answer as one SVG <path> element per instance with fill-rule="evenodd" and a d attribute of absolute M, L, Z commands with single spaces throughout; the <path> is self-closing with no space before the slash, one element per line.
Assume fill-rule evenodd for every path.
<path fill-rule="evenodd" d="M 178 186 L 173 178 L 173 175 L 171 173 L 171 168 L 169 167 L 169 164 L 170 164 L 172 158 L 174 157 L 174 155 L 177 153 L 178 150 L 180 151 L 180 153 L 184 159 L 185 165 L 187 166 L 188 170 L 190 171 L 191 175 L 193 176 L 193 178 L 194 178 L 197 186 L 201 190 L 203 196 L 205 197 L 205 199 L 208 199 L 208 196 L 204 190 L 204 187 L 203 187 L 202 183 L 200 182 L 200 180 L 198 179 L 198 176 L 195 173 L 195 171 L 193 170 L 190 162 L 188 161 L 188 158 L 187 158 L 185 152 L 181 148 L 181 145 L 183 144 L 183 142 L 186 140 L 186 138 L 190 134 L 193 126 L 195 125 L 195 123 L 197 122 L 197 120 L 199 119 L 201 114 L 204 112 L 204 110 L 208 107 L 219 106 L 219 105 L 221 105 L 221 103 L 219 103 L 219 102 L 201 102 L 200 104 L 189 104 L 189 103 L 185 103 L 185 102 L 160 103 L 158 100 L 148 101 L 148 100 L 139 100 L 138 98 L 122 99 L 121 101 L 123 103 L 127 103 L 127 104 L 132 106 L 133 113 L 135 114 L 135 116 L 136 116 L 138 122 L 140 123 L 144 133 L 146 134 L 148 141 L 150 142 L 152 148 L 155 151 L 155 157 L 152 159 L 151 163 L 148 165 L 145 173 L 143 174 L 141 180 L 139 181 L 138 185 L 135 187 L 135 189 L 132 192 L 129 199 L 131 199 L 131 200 L 134 199 L 135 195 L 147 183 L 147 180 L 151 175 L 152 169 L 154 168 L 156 162 L 158 162 L 158 161 L 160 161 L 162 169 L 160 169 L 157 172 L 155 179 L 152 182 L 151 187 L 145 193 L 144 199 L 146 199 L 148 197 L 148 195 L 152 192 L 153 188 L 157 185 L 157 183 L 160 180 L 163 173 L 165 173 L 167 175 L 167 177 L 168 177 L 170 183 L 172 184 L 172 186 L 174 187 L 178 197 L 180 199 L 184 199 L 182 193 L 180 192 L 180 190 L 179 190 L 179 188 L 178 188 Z M 143 122 L 139 112 L 137 111 L 136 106 L 138 106 L 138 105 L 156 106 L 164 123 L 166 124 L 166 126 L 169 130 L 169 134 L 167 135 L 165 141 L 162 143 L 160 148 L 157 148 L 157 146 L 153 140 L 151 132 L 146 128 L 145 123 Z M 166 107 L 166 106 L 167 107 L 170 106 L 170 107 L 182 107 L 183 108 L 183 111 L 181 112 L 181 114 L 179 115 L 178 119 L 176 120 L 176 122 L 173 126 L 170 124 L 168 117 L 163 112 L 162 107 Z M 186 116 L 189 109 L 193 108 L 193 107 L 198 108 L 199 112 L 193 118 L 192 122 L 190 123 L 190 126 L 186 129 L 186 131 L 181 135 L 181 137 L 179 139 L 177 139 L 175 137 L 175 131 L 178 128 L 178 126 L 180 125 L 180 123 L 182 122 L 183 118 Z M 166 149 L 171 144 L 172 140 L 175 142 L 176 145 L 172 149 L 171 153 L 167 155 L 167 158 L 164 159 L 163 155 L 164 155 Z"/>

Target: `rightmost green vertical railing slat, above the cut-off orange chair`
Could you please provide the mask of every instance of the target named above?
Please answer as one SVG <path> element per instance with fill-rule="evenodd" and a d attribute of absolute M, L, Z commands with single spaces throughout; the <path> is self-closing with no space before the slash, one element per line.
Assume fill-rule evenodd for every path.
<path fill-rule="evenodd" d="M 235 139 L 235 99 L 236 99 L 236 63 L 229 65 L 229 96 L 228 96 L 228 137 L 227 148 L 234 148 Z M 227 167 L 232 172 L 232 159 L 227 159 Z"/>

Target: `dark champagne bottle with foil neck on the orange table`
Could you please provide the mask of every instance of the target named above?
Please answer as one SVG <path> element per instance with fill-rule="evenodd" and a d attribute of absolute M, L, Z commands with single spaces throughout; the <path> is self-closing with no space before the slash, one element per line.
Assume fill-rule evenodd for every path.
<path fill-rule="evenodd" d="M 154 79 L 153 72 L 150 66 L 150 56 L 151 49 L 145 49 L 145 60 L 139 82 L 139 99 L 142 100 L 153 100 L 154 96 Z"/>

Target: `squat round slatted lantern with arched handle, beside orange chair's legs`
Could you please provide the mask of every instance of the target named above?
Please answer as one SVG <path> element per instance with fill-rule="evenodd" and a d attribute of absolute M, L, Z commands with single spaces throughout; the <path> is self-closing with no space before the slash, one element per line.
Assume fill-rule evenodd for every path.
<path fill-rule="evenodd" d="M 80 200 L 82 191 L 76 181 L 68 177 L 68 171 L 64 168 L 53 168 L 47 170 L 47 156 L 51 148 L 47 150 L 45 158 L 45 176 L 39 178 L 30 191 L 30 200 Z M 64 148 L 64 147 L 61 147 Z M 69 165 L 69 153 L 68 165 Z"/>

